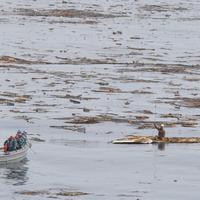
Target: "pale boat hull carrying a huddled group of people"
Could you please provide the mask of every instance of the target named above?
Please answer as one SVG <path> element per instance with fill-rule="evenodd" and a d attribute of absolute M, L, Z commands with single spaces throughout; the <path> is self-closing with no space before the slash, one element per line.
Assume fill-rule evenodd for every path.
<path fill-rule="evenodd" d="M 26 145 L 15 151 L 4 152 L 3 148 L 0 148 L 0 165 L 22 161 L 30 147 L 31 144 L 27 141 Z"/>

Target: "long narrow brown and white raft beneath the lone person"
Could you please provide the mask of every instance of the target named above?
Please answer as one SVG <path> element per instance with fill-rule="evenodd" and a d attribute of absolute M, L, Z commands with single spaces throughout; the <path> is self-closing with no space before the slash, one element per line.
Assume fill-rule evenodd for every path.
<path fill-rule="evenodd" d="M 113 144 L 200 143 L 200 137 L 128 136 L 112 141 Z"/>

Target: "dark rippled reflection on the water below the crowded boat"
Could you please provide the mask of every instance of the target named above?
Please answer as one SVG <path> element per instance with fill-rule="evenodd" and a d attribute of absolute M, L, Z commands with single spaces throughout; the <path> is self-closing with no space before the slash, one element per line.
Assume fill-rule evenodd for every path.
<path fill-rule="evenodd" d="M 12 185 L 24 185 L 28 181 L 28 159 L 18 163 L 10 163 L 0 166 L 1 177 Z"/>

